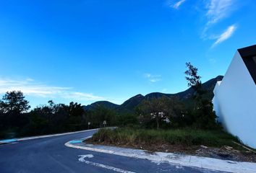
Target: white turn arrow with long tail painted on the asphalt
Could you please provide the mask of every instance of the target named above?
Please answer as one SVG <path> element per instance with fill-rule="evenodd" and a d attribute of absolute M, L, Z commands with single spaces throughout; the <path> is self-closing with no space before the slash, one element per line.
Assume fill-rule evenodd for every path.
<path fill-rule="evenodd" d="M 121 173 L 135 173 L 135 172 L 129 172 L 127 170 L 124 170 L 124 169 L 119 169 L 119 168 L 116 168 L 116 167 L 110 167 L 108 165 L 105 165 L 105 164 L 98 164 L 98 163 L 95 163 L 93 161 L 87 161 L 85 160 L 85 158 L 93 158 L 93 154 L 87 154 L 87 155 L 80 155 L 79 156 L 80 158 L 78 159 L 79 161 L 85 163 L 85 164 L 90 164 L 90 165 L 93 165 L 95 167 L 101 167 L 101 168 L 104 168 L 104 169 L 110 169 L 114 172 L 121 172 Z"/>

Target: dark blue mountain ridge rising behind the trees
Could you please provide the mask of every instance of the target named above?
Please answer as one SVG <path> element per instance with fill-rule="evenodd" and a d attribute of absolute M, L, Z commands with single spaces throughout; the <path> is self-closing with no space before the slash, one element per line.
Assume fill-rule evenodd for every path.
<path fill-rule="evenodd" d="M 202 84 L 202 88 L 208 91 L 207 97 L 208 99 L 213 99 L 213 89 L 216 85 L 217 81 L 221 81 L 223 79 L 223 76 L 217 76 L 216 78 L 210 79 L 208 81 L 205 81 L 205 83 Z M 127 99 L 123 104 L 116 105 L 112 102 L 108 101 L 98 101 L 94 102 L 90 105 L 84 106 L 84 110 L 93 110 L 96 107 L 106 107 L 111 110 L 116 110 L 118 112 L 133 112 L 135 110 L 135 107 L 140 104 L 144 99 L 151 99 L 151 98 L 160 98 L 160 97 L 177 97 L 180 100 L 186 102 L 191 98 L 191 96 L 194 94 L 194 89 L 192 87 L 189 87 L 189 89 L 178 92 L 176 94 L 165 94 L 161 92 L 152 92 L 150 94 L 146 94 L 143 96 L 142 94 L 137 94 L 134 97 L 131 97 Z"/>

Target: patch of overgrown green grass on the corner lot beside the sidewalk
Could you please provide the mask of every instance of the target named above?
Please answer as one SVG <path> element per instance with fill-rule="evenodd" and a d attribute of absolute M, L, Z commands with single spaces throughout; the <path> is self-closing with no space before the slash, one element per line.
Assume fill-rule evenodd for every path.
<path fill-rule="evenodd" d="M 148 130 L 135 128 L 101 129 L 90 141 L 108 143 L 117 146 L 134 146 L 136 148 L 151 148 L 150 145 L 159 146 L 168 144 L 176 146 L 232 146 L 241 148 L 233 141 L 239 142 L 235 136 L 222 130 L 199 130 L 181 128 L 170 130 Z M 157 148 L 155 148 L 157 149 Z"/>

